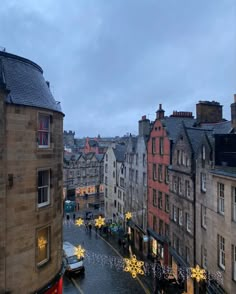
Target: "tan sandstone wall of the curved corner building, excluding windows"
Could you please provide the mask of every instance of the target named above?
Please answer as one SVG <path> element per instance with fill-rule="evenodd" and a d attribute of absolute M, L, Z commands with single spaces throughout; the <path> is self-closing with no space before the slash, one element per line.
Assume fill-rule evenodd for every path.
<path fill-rule="evenodd" d="M 39 112 L 51 115 L 50 148 L 39 149 L 37 146 Z M 11 178 L 11 183 L 8 183 L 6 189 L 4 221 L 4 204 L 0 202 L 0 228 L 6 227 L 5 235 L 0 231 L 0 240 L 5 239 L 7 244 L 6 268 L 0 268 L 0 285 L 4 274 L 5 288 L 11 293 L 31 293 L 47 284 L 61 268 L 63 117 L 61 113 L 45 109 L 7 105 L 6 136 L 2 134 L 1 124 L 2 120 L 0 138 L 2 135 L 5 138 L 7 150 L 5 173 Z M 2 164 L 0 174 L 1 168 Z M 40 168 L 48 168 L 51 171 L 50 204 L 41 208 L 37 205 L 37 175 Z M 1 197 L 2 192 L 4 189 L 1 184 Z M 50 227 L 50 259 L 39 267 L 36 262 L 37 231 L 46 226 Z"/>

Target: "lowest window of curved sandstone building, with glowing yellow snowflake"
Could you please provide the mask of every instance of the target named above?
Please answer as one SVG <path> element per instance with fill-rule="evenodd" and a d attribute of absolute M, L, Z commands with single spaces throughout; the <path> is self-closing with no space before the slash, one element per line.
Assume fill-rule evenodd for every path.
<path fill-rule="evenodd" d="M 49 260 L 49 227 L 37 232 L 37 265 L 40 266 Z"/>

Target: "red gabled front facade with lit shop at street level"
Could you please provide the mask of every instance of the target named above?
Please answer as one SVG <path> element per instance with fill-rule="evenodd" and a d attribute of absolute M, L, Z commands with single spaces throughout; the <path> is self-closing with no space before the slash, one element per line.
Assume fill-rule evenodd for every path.
<path fill-rule="evenodd" d="M 159 107 L 147 145 L 148 233 L 153 257 L 168 264 L 170 141 L 162 124 L 164 111 Z"/>

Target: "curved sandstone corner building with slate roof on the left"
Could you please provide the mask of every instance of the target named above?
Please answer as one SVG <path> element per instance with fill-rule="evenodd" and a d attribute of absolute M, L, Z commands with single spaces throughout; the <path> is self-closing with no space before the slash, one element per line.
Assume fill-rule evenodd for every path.
<path fill-rule="evenodd" d="M 0 52 L 0 293 L 62 293 L 63 116 L 42 69 Z"/>

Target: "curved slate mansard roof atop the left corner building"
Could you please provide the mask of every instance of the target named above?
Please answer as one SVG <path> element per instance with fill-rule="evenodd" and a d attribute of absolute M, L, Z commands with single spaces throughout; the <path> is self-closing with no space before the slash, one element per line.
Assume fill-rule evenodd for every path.
<path fill-rule="evenodd" d="M 0 76 L 10 91 L 9 104 L 45 108 L 62 112 L 43 77 L 43 70 L 36 63 L 7 52 L 0 52 Z"/>

